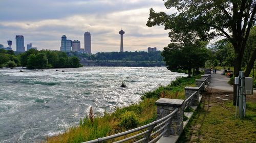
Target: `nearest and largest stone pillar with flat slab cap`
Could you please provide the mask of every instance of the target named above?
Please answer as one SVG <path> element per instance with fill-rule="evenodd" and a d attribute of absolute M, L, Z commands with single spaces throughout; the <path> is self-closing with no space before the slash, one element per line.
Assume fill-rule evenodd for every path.
<path fill-rule="evenodd" d="M 172 119 L 172 123 L 169 127 L 169 130 L 164 134 L 164 136 L 169 135 L 180 135 L 183 131 L 183 102 L 181 99 L 169 99 L 169 98 L 160 98 L 155 104 L 157 105 L 157 119 L 161 119 L 167 116 L 169 113 L 173 112 L 178 108 L 178 112 Z"/>

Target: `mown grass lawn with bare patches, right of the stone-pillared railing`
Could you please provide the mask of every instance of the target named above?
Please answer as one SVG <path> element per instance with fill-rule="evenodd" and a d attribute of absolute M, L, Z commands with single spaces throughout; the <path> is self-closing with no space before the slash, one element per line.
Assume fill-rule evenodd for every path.
<path fill-rule="evenodd" d="M 195 111 L 178 142 L 256 142 L 255 102 L 247 102 L 243 120 L 234 117 L 231 100 L 211 97 L 206 102 Z"/>

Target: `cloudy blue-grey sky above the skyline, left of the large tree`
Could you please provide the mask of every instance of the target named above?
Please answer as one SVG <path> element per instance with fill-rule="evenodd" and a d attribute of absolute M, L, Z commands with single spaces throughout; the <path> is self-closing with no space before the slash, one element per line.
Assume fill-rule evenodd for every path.
<path fill-rule="evenodd" d="M 124 51 L 143 51 L 170 43 L 163 26 L 147 27 L 150 8 L 166 10 L 162 0 L 1 0 L 0 44 L 7 47 L 15 35 L 23 35 L 25 48 L 59 50 L 61 36 L 79 40 L 84 48 L 84 32 L 91 33 L 92 53 L 120 51 L 122 30 Z"/>

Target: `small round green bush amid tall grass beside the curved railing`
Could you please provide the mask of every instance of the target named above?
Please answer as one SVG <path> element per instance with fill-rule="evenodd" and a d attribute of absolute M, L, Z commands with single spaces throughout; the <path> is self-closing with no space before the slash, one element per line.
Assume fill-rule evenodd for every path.
<path fill-rule="evenodd" d="M 137 119 L 134 111 L 126 111 L 121 116 L 121 122 L 119 126 L 125 129 L 131 129 L 137 127 L 138 124 L 139 120 Z"/>

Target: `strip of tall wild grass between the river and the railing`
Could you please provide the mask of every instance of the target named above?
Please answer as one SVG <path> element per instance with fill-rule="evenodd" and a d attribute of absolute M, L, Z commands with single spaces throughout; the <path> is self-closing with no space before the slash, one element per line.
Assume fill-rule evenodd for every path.
<path fill-rule="evenodd" d="M 104 113 L 103 117 L 95 118 L 93 121 L 89 118 L 81 119 L 79 125 L 69 128 L 62 134 L 47 137 L 46 142 L 83 142 L 126 131 L 127 128 L 121 126 L 120 121 L 124 113 L 129 111 L 137 116 L 138 126 L 151 123 L 157 118 L 156 100 L 159 98 L 184 99 L 184 87 L 194 85 L 195 79 L 198 78 L 200 75 L 178 78 L 165 87 L 144 93 L 138 104 L 117 107 L 113 113 Z"/>

